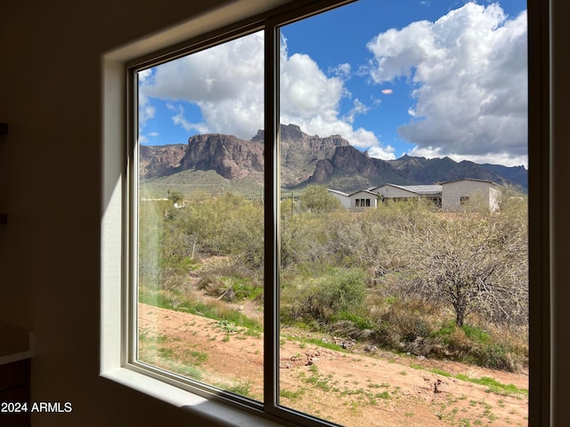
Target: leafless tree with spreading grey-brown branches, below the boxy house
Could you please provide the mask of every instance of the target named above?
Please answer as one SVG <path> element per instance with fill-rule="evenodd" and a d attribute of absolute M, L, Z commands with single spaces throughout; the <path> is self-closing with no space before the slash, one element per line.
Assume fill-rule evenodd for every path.
<path fill-rule="evenodd" d="M 457 326 L 463 326 L 471 312 L 493 323 L 527 322 L 522 205 L 500 214 L 435 214 L 429 221 L 409 222 L 398 232 L 400 250 L 409 263 L 407 290 L 451 305 Z"/>

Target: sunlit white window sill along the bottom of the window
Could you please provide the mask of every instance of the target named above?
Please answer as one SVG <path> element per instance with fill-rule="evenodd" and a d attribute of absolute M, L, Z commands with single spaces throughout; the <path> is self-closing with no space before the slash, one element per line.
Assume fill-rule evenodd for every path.
<path fill-rule="evenodd" d="M 283 425 L 216 400 L 201 398 L 190 391 L 184 391 L 174 385 L 123 367 L 110 369 L 103 372 L 101 376 L 175 407 L 183 408 L 189 415 L 195 414 L 209 419 L 216 425 L 244 427 L 281 427 Z"/>

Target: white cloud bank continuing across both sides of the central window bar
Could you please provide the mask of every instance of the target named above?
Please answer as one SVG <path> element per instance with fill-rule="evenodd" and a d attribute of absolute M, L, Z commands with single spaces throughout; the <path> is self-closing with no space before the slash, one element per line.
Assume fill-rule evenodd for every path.
<path fill-rule="evenodd" d="M 285 38 L 281 41 L 281 123 L 299 125 L 309 134 L 341 134 L 355 147 L 374 147 L 379 157 L 394 158 L 390 149 L 380 148 L 374 133 L 354 129 L 354 117 L 368 111 L 362 101 L 354 100 L 353 109 L 341 117 L 339 103 L 350 97 L 345 85 L 350 64 L 330 70 L 329 77 L 308 55 L 289 56 Z M 175 125 L 186 131 L 249 139 L 264 127 L 263 55 L 263 33 L 256 33 L 167 62 L 140 78 L 140 99 L 168 101 Z M 195 103 L 203 121 L 192 123 L 178 101 Z"/>

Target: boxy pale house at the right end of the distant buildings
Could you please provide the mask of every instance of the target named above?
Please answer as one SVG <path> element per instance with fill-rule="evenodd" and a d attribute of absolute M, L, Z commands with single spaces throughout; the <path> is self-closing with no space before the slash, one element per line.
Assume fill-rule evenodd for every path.
<path fill-rule="evenodd" d="M 501 185 L 493 181 L 464 179 L 442 183 L 442 210 L 457 212 L 461 206 L 483 203 L 492 212 L 501 204 Z"/>

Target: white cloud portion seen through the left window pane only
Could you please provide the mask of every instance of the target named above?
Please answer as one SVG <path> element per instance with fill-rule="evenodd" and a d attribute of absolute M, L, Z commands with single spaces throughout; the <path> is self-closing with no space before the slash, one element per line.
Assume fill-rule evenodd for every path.
<path fill-rule="evenodd" d="M 263 127 L 263 52 L 263 33 L 244 36 L 154 68 L 142 80 L 140 92 L 196 103 L 204 123 L 191 123 L 178 107 L 172 117 L 187 131 L 249 139 Z"/>

